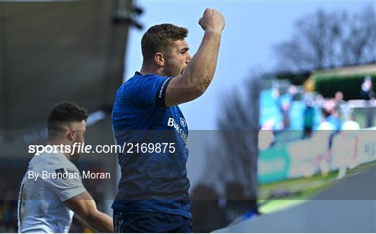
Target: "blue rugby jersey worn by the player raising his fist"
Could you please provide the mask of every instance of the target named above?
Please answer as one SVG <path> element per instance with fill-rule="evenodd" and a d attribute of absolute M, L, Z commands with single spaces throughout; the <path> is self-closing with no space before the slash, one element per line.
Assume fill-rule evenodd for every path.
<path fill-rule="evenodd" d="M 164 104 L 169 81 L 171 77 L 136 72 L 116 92 L 112 111 L 116 144 L 130 149 L 130 144 L 146 143 L 155 150 L 143 153 L 133 147 L 132 153 L 118 153 L 121 178 L 112 205 L 115 210 L 191 218 L 186 169 L 188 127 L 178 106 L 166 108 Z M 156 149 L 158 143 L 164 143 L 160 151 Z"/>

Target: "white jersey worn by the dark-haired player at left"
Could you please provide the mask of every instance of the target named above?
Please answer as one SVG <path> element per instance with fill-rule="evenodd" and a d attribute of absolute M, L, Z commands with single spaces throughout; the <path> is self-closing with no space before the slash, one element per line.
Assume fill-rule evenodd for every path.
<path fill-rule="evenodd" d="M 33 156 L 19 190 L 18 232 L 68 233 L 73 212 L 63 201 L 85 191 L 77 167 L 63 153 Z"/>

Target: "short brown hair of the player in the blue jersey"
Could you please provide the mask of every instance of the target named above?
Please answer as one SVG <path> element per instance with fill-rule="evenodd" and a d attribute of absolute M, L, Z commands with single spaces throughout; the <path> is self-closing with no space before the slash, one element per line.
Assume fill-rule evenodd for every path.
<path fill-rule="evenodd" d="M 175 41 L 183 40 L 187 35 L 187 28 L 173 24 L 157 24 L 150 27 L 141 40 L 143 60 L 150 60 L 157 52 L 169 53 Z"/>

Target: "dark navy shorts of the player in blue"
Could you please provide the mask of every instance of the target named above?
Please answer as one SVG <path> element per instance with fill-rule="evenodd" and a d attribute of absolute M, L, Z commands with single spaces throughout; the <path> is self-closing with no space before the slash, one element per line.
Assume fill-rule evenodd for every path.
<path fill-rule="evenodd" d="M 192 233 L 191 219 L 161 212 L 113 210 L 114 233 Z"/>

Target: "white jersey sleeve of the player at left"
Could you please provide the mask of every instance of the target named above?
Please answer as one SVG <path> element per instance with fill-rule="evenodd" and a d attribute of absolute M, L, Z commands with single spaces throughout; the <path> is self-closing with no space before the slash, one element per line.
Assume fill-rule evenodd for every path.
<path fill-rule="evenodd" d="M 64 174 L 67 174 L 67 172 L 70 173 L 70 176 L 63 176 Z M 52 173 L 56 173 L 58 178 L 49 177 L 44 181 L 47 183 L 47 187 L 49 187 L 61 201 L 66 201 L 78 194 L 86 192 L 78 169 L 75 171 L 70 169 L 70 171 L 68 171 L 68 169 L 64 167 L 56 167 Z"/>

